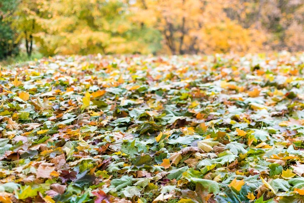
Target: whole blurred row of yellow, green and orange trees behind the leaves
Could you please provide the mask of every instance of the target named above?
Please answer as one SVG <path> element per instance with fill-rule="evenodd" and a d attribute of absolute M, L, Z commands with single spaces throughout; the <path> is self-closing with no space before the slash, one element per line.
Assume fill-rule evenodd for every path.
<path fill-rule="evenodd" d="M 303 51 L 303 0 L 2 0 L 0 58 Z"/>

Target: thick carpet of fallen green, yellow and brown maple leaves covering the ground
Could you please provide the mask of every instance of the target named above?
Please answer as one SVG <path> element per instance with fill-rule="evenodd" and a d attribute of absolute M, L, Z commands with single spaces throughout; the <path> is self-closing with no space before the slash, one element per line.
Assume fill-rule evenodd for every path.
<path fill-rule="evenodd" d="M 304 55 L 56 56 L 0 73 L 2 202 L 301 202 Z"/>

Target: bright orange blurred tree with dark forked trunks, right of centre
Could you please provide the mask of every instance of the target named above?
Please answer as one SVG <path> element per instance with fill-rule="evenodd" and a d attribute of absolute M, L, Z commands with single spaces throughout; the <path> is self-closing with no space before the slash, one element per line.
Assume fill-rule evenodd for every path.
<path fill-rule="evenodd" d="M 256 51 L 265 41 L 226 16 L 225 2 L 197 0 L 136 1 L 134 21 L 160 30 L 171 54 Z"/>

